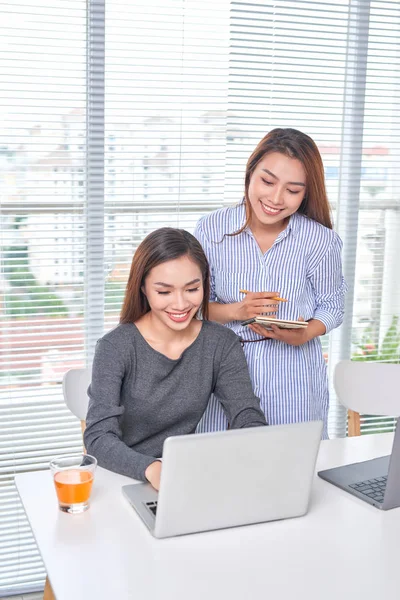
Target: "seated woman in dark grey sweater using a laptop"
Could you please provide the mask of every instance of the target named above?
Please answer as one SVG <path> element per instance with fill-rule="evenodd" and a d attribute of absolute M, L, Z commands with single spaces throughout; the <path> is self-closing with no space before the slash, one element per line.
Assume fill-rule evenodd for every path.
<path fill-rule="evenodd" d="M 164 440 L 194 433 L 212 393 L 231 428 L 266 425 L 239 338 L 207 321 L 209 286 L 203 249 L 183 229 L 158 229 L 136 250 L 88 390 L 84 442 L 100 466 L 158 489 Z"/>

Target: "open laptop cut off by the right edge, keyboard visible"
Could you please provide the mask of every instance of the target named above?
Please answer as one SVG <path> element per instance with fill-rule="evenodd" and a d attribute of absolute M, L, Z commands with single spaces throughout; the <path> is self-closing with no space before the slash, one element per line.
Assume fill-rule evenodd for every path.
<path fill-rule="evenodd" d="M 318 475 L 342 490 L 382 510 L 400 506 L 400 419 L 392 453 L 364 462 L 319 471 Z"/>

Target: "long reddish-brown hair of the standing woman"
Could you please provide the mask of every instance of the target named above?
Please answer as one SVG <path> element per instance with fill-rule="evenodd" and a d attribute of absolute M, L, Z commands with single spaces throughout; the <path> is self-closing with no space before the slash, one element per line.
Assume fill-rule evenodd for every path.
<path fill-rule="evenodd" d="M 258 143 L 246 165 L 244 182 L 244 203 L 246 222 L 233 235 L 241 233 L 249 226 L 252 207 L 249 201 L 251 176 L 258 163 L 271 152 L 280 152 L 289 158 L 297 158 L 306 174 L 306 193 L 297 212 L 314 219 L 332 229 L 331 209 L 325 187 L 325 173 L 322 158 L 314 140 L 297 129 L 273 129 Z"/>

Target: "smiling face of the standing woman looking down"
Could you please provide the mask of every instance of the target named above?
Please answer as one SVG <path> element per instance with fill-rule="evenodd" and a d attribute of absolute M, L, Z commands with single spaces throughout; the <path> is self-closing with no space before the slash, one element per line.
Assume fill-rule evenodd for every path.
<path fill-rule="evenodd" d="M 251 224 L 284 229 L 306 193 L 306 174 L 297 158 L 271 152 L 258 163 L 250 178 Z"/>

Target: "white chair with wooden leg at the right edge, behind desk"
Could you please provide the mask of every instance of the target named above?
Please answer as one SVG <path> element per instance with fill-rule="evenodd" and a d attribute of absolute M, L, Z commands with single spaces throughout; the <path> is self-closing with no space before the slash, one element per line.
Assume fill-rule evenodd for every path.
<path fill-rule="evenodd" d="M 333 384 L 349 411 L 349 436 L 360 435 L 360 414 L 400 415 L 400 364 L 342 360 Z"/>

